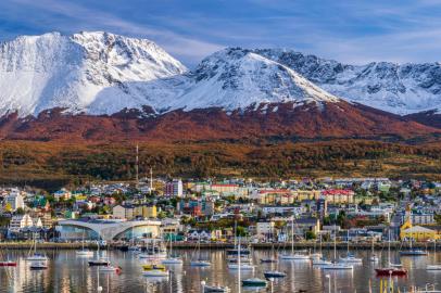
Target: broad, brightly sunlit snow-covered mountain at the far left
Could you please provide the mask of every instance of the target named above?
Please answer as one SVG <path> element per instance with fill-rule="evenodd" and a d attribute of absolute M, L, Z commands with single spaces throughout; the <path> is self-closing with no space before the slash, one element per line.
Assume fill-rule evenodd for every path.
<path fill-rule="evenodd" d="M 66 107 L 111 114 L 146 104 L 137 82 L 186 67 L 154 42 L 108 33 L 22 36 L 0 46 L 0 115 Z"/>

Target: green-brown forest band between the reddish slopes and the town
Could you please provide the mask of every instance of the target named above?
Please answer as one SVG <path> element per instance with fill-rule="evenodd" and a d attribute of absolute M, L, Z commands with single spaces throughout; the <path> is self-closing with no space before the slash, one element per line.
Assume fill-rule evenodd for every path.
<path fill-rule="evenodd" d="M 1 182 L 60 186 L 135 177 L 135 144 L 2 142 Z M 324 142 L 140 143 L 140 176 L 261 178 L 388 176 L 439 178 L 441 144 Z M 46 183 L 43 183 L 46 182 Z"/>

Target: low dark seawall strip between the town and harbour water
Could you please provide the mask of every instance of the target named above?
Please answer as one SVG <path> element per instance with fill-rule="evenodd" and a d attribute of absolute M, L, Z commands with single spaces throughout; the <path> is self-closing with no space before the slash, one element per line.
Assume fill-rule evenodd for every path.
<path fill-rule="evenodd" d="M 0 250 L 29 250 L 33 246 L 32 242 L 0 242 Z M 79 250 L 83 247 L 83 243 L 55 243 L 55 242 L 45 242 L 45 243 L 37 243 L 39 250 Z M 119 251 L 127 251 L 128 244 L 122 243 L 111 243 L 105 245 L 105 247 L 111 250 L 119 250 Z M 291 243 L 250 243 L 250 246 L 253 250 L 270 250 L 272 247 L 277 250 L 289 250 L 291 247 Z M 340 242 L 337 243 L 337 250 L 346 250 L 348 243 Z M 391 250 L 408 250 L 408 244 L 402 244 L 401 242 L 391 242 Z M 85 244 L 86 249 L 94 250 L 97 249 L 97 244 L 88 243 Z M 101 247 L 104 247 L 101 245 Z M 173 249 L 175 250 L 193 250 L 198 247 L 197 242 L 176 242 L 173 244 Z M 234 243 L 201 243 L 201 250 L 229 250 L 234 249 Z M 323 250 L 333 250 L 333 242 L 326 242 L 322 244 Z M 350 243 L 350 250 L 371 250 L 371 243 Z M 433 244 L 431 243 L 413 243 L 414 249 L 423 249 L 428 251 L 433 251 Z M 295 250 L 313 250 L 319 249 L 319 245 L 316 243 L 311 242 L 294 242 Z M 374 249 L 376 251 L 380 250 L 388 250 L 388 243 L 375 243 Z"/>

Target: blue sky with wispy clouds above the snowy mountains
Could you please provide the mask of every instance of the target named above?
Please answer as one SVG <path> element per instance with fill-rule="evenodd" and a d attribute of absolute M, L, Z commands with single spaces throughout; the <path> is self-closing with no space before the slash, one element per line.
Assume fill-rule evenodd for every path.
<path fill-rule="evenodd" d="M 441 0 L 1 0 L 0 39 L 106 30 L 149 38 L 190 67 L 224 47 L 346 63 L 441 61 Z"/>

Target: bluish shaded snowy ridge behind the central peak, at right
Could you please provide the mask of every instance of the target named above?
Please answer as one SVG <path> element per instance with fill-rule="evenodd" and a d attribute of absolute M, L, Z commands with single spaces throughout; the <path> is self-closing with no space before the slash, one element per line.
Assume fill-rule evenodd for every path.
<path fill-rule="evenodd" d="M 278 49 L 254 50 L 342 99 L 404 115 L 441 110 L 441 64 L 348 65 Z"/>

